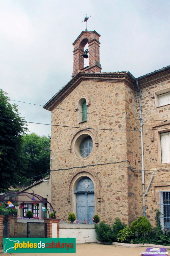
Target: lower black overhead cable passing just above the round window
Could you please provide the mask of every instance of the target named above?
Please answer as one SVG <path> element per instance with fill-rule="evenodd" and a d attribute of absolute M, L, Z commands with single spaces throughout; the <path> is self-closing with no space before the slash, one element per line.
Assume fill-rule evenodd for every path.
<path fill-rule="evenodd" d="M 2 118 L 0 119 L 3 120 L 9 120 L 13 121 L 13 119 L 8 119 L 8 118 Z M 81 129 L 91 129 L 91 130 L 102 130 L 102 131 L 133 131 L 136 132 L 138 131 L 136 128 L 135 129 L 106 129 L 106 128 L 93 128 L 93 127 L 81 127 L 81 126 L 69 126 L 69 125 L 60 125 L 60 124 L 44 124 L 44 123 L 36 123 L 36 122 L 28 122 L 28 121 L 22 121 L 24 123 L 29 123 L 29 124 L 43 124 L 43 125 L 50 125 L 50 126 L 57 126 L 57 127 L 67 127 L 67 128 L 81 128 Z M 154 128 L 154 130 L 166 130 L 167 128 Z M 143 131 L 152 131 L 152 129 L 143 129 Z"/>

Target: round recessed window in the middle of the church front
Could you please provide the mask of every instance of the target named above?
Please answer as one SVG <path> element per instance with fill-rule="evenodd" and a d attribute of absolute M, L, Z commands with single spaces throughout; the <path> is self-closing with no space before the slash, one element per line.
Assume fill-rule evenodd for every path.
<path fill-rule="evenodd" d="M 74 152 L 79 158 L 86 158 L 93 148 L 93 140 L 89 134 L 80 135 L 74 144 Z"/>

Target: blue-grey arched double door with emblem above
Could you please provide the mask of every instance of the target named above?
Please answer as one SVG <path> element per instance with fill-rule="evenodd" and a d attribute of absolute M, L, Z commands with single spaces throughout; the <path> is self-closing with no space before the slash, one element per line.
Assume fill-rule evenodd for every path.
<path fill-rule="evenodd" d="M 89 177 L 79 180 L 76 190 L 76 216 L 78 221 L 89 221 L 95 214 L 94 184 Z"/>

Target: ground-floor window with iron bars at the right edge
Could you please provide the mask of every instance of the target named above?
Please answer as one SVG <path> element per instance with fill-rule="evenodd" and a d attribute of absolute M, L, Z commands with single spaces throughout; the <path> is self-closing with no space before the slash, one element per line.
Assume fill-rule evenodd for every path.
<path fill-rule="evenodd" d="M 158 192 L 158 210 L 161 212 L 160 225 L 170 229 L 170 191 Z"/>

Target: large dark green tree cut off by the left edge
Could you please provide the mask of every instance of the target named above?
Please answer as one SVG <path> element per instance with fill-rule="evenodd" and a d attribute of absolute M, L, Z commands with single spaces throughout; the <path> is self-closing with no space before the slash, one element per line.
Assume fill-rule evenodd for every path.
<path fill-rule="evenodd" d="M 17 105 L 10 104 L 7 93 L 0 89 L 0 191 L 18 184 L 24 161 L 20 155 L 26 122 Z"/>

